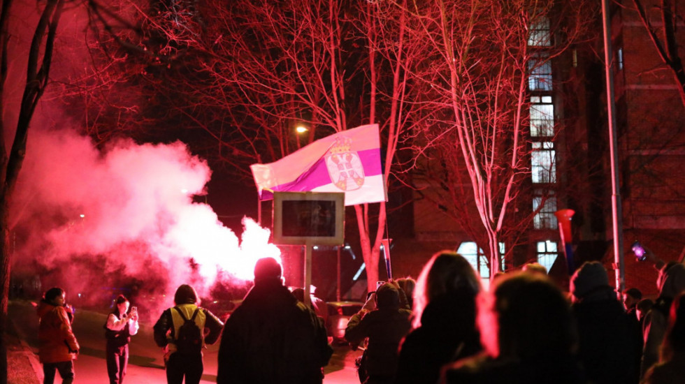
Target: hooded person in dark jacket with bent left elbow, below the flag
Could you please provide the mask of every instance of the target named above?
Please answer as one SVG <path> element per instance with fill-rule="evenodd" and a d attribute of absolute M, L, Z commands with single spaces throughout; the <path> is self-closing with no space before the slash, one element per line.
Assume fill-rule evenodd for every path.
<path fill-rule="evenodd" d="M 401 307 L 400 288 L 394 283 L 383 283 L 375 295 L 376 309 L 361 311 L 349 318 L 345 328 L 345 340 L 359 344 L 368 337 L 366 372 L 364 383 L 392 383 L 398 363 L 398 346 L 411 328 L 412 311 Z"/>

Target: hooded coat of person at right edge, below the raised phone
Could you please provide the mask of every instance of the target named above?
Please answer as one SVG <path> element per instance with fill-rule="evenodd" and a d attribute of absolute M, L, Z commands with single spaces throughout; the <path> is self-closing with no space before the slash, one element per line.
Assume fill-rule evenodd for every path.
<path fill-rule="evenodd" d="M 668 268 L 668 269 L 667 269 Z M 644 349 L 642 350 L 642 375 L 658 361 L 659 348 L 668 326 L 668 313 L 673 298 L 685 289 L 685 265 L 678 263 L 661 269 L 658 280 L 659 297 L 654 307 L 644 316 L 642 334 Z"/>

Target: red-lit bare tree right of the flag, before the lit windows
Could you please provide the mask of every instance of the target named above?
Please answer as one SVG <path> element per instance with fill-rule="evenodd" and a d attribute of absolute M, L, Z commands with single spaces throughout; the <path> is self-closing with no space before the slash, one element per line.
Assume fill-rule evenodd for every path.
<path fill-rule="evenodd" d="M 417 125 L 424 138 L 417 150 L 426 155 L 424 170 L 443 181 L 438 203 L 456 218 L 477 211 L 479 223 L 461 223 L 488 256 L 491 276 L 502 265 L 503 233 L 528 228 L 535 214 L 512 209 L 531 176 L 533 138 L 554 142 L 559 128 L 552 116 L 532 117 L 530 82 L 552 89 L 542 74 L 579 42 L 588 10 L 582 1 L 412 3 L 411 38 L 426 47 L 412 79 L 429 105 Z M 543 164 L 551 172 L 554 158 Z M 554 183 L 551 173 L 540 183 Z"/>

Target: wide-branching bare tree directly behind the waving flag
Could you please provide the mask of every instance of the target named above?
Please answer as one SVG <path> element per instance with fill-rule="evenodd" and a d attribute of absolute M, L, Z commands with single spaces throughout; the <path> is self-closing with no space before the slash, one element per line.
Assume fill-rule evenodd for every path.
<path fill-rule="evenodd" d="M 164 119 L 206 132 L 215 161 L 245 179 L 250 163 L 380 121 L 387 182 L 414 108 L 405 68 L 417 53 L 405 41 L 403 8 L 336 0 L 173 4 L 139 8 L 146 36 L 140 44 L 160 54 L 138 57 L 143 71 L 129 72 L 164 98 Z M 296 136 L 298 124 L 308 126 L 307 137 Z M 359 205 L 355 212 L 373 290 L 386 207 Z"/>

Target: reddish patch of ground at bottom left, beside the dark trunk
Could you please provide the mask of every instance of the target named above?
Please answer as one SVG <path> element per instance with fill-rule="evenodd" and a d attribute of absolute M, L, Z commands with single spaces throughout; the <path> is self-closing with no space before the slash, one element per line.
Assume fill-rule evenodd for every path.
<path fill-rule="evenodd" d="M 7 383 L 40 384 L 43 369 L 38 356 L 22 339 L 11 320 L 7 322 Z"/>

